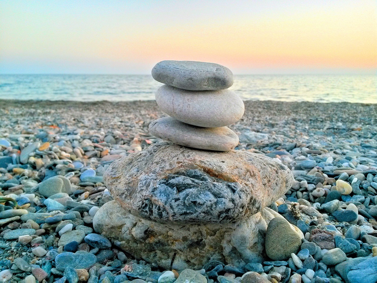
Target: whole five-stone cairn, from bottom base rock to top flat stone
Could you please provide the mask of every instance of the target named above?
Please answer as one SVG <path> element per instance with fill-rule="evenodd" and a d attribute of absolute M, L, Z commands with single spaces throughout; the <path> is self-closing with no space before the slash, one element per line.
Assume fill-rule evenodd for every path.
<path fill-rule="evenodd" d="M 291 171 L 234 150 L 238 137 L 227 126 L 242 117 L 244 104 L 228 90 L 232 72 L 213 63 L 162 61 L 152 75 L 164 83 L 156 101 L 169 117 L 149 130 L 166 141 L 109 166 L 104 183 L 114 200 L 97 212 L 94 229 L 136 258 L 178 270 L 214 260 L 241 268 L 262 262 L 272 219 L 281 220 L 277 233 L 284 222 L 303 237 L 267 208 L 291 188 Z"/>

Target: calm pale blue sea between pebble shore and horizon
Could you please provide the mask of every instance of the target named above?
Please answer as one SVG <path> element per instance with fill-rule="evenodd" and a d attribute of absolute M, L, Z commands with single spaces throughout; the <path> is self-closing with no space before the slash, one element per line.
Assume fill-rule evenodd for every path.
<path fill-rule="evenodd" d="M 150 75 L 0 75 L 0 99 L 153 100 Z M 377 103 L 375 75 L 235 75 L 242 100 Z"/>

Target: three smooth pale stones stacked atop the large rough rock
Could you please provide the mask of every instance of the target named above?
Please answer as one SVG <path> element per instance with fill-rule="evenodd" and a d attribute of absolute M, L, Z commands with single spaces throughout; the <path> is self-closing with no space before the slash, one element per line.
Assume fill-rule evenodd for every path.
<path fill-rule="evenodd" d="M 153 121 L 149 131 L 178 145 L 230 151 L 238 136 L 227 126 L 244 115 L 241 98 L 228 88 L 232 72 L 221 65 L 195 61 L 162 61 L 152 76 L 164 83 L 156 92 L 158 106 L 170 117 Z"/>

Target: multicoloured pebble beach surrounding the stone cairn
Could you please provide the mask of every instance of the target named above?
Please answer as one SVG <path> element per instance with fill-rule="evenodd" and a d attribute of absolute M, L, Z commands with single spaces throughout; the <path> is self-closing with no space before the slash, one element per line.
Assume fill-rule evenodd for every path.
<path fill-rule="evenodd" d="M 245 101 L 235 149 L 288 166 L 270 205 L 289 225 L 266 235 L 266 261 L 208 262 L 192 274 L 133 258 L 93 229 L 112 201 L 109 165 L 162 141 L 155 101 L 0 100 L 0 281 L 77 283 L 376 283 L 377 105 Z M 297 246 L 299 248 L 297 248 Z M 130 268 L 132 266 L 132 268 Z"/>

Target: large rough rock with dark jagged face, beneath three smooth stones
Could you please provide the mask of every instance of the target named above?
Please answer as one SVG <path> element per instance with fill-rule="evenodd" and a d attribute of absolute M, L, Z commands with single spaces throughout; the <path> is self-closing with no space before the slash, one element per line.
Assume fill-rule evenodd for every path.
<path fill-rule="evenodd" d="M 227 223 L 269 206 L 291 188 L 293 175 L 263 155 L 162 142 L 114 161 L 104 183 L 124 209 L 141 218 Z"/>

